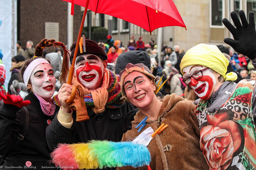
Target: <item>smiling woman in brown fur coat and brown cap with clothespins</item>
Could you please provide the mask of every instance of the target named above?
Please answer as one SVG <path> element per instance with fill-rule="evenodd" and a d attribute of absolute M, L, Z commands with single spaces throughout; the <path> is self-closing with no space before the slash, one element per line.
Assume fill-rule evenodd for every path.
<path fill-rule="evenodd" d="M 143 64 L 128 63 L 120 72 L 122 96 L 139 108 L 134 116 L 132 129 L 122 137 L 130 141 L 143 130 L 151 127 L 154 131 L 161 124 L 168 125 L 156 134 L 148 144 L 151 153 L 152 170 L 207 170 L 207 162 L 199 146 L 199 127 L 195 116 L 195 105 L 175 94 L 166 95 L 161 101 L 154 92 L 157 90 L 154 75 Z M 138 132 L 135 128 L 147 116 L 146 125 Z M 121 167 L 118 170 L 134 169 Z M 147 167 L 139 167 L 147 170 Z"/>

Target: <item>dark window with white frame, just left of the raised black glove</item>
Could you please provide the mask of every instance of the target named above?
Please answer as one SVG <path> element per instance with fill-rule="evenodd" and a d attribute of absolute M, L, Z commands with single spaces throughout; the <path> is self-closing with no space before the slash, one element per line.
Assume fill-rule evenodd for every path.
<path fill-rule="evenodd" d="M 224 28 L 224 0 L 210 0 L 210 26 L 212 28 Z"/>

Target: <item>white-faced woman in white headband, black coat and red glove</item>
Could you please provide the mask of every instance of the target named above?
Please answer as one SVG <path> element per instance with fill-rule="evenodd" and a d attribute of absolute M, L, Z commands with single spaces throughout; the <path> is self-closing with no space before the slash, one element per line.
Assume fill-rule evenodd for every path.
<path fill-rule="evenodd" d="M 42 40 L 36 47 L 36 56 L 42 55 L 45 46 L 60 44 Z M 65 49 L 64 49 L 65 50 Z M 20 70 L 29 94 L 8 95 L 0 111 L 0 155 L 3 169 L 52 169 L 45 130 L 58 112 L 52 101 L 55 77 L 48 60 L 35 57 L 27 59 Z M 24 106 L 24 107 L 23 107 Z"/>

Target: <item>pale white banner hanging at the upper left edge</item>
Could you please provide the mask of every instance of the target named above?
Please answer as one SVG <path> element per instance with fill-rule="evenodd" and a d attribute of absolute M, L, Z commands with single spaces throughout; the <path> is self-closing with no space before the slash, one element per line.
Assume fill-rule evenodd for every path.
<path fill-rule="evenodd" d="M 0 0 L 0 51 L 6 69 L 5 88 L 11 77 L 11 59 L 17 54 L 17 0 Z"/>

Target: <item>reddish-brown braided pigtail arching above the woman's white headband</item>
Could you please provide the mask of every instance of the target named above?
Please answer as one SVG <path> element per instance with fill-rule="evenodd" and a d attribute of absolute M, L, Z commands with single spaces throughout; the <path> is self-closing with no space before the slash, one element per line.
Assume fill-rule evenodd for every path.
<path fill-rule="evenodd" d="M 45 47 L 50 47 L 50 46 L 54 46 L 54 47 L 58 47 L 61 46 L 63 48 L 64 51 L 64 55 L 63 55 L 63 61 L 62 61 L 62 67 L 61 67 L 61 77 L 60 77 L 60 82 L 61 84 L 67 82 L 67 74 L 69 71 L 69 57 L 70 54 L 67 51 L 66 46 L 62 43 L 62 42 L 56 42 L 55 40 L 47 40 L 47 39 L 43 39 L 41 40 L 41 42 L 38 43 L 38 45 L 36 45 L 35 47 L 35 57 L 41 57 L 43 55 L 43 50 Z"/>

